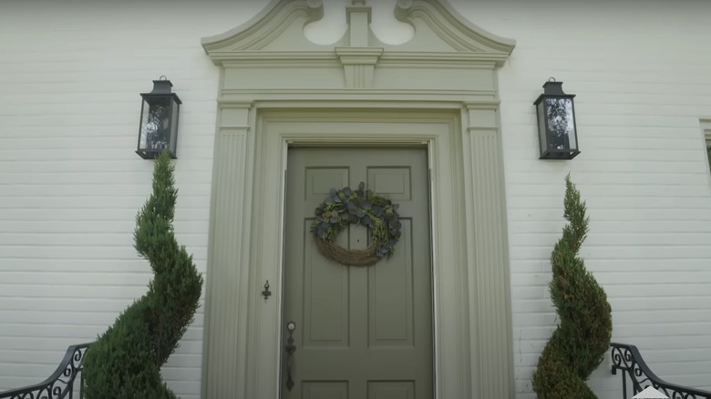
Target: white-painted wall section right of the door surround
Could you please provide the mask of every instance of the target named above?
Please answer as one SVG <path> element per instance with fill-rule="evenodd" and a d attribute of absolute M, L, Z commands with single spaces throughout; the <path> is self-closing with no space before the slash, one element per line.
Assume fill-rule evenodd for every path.
<path fill-rule="evenodd" d="M 549 257 L 564 177 L 587 201 L 581 255 L 613 307 L 613 341 L 657 375 L 711 390 L 711 186 L 699 118 L 711 115 L 711 3 L 490 2 L 462 7 L 517 40 L 500 70 L 516 391 L 556 323 Z M 538 159 L 531 103 L 555 77 L 574 93 L 582 154 Z M 589 382 L 621 397 L 609 363 Z"/>

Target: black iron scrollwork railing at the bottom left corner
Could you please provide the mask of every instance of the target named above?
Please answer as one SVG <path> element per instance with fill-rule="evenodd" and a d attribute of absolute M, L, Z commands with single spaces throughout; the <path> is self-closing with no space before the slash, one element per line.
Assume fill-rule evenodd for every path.
<path fill-rule="evenodd" d="M 84 382 L 80 374 L 89 345 L 90 343 L 80 343 L 69 346 L 62 363 L 59 363 L 57 370 L 49 378 L 39 384 L 0 392 L 0 399 L 80 399 L 81 385 Z M 79 385 L 76 394 L 75 382 Z"/>

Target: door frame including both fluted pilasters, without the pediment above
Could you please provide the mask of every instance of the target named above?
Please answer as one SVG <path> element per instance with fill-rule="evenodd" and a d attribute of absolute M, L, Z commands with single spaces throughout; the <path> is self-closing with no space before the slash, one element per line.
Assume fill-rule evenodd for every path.
<path fill-rule="evenodd" d="M 206 397 L 277 397 L 281 386 L 289 145 L 428 146 L 436 397 L 503 399 L 513 392 L 501 144 L 499 129 L 489 125 L 498 118 L 485 118 L 497 116 L 496 108 L 459 101 L 399 105 L 221 103 L 205 305 Z M 362 135 L 348 128 L 355 120 L 414 125 L 405 133 L 381 128 Z M 344 123 L 336 132 L 271 128 L 294 121 Z M 262 296 L 265 281 L 275 293 L 268 300 Z"/>

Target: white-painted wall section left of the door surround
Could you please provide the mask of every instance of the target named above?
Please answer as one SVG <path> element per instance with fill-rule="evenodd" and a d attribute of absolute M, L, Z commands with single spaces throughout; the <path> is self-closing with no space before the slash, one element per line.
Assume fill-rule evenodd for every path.
<path fill-rule="evenodd" d="M 219 69 L 200 39 L 259 4 L 110 3 L 0 4 L 0 391 L 46 378 L 147 291 L 132 234 L 153 164 L 133 151 L 161 75 L 183 101 L 176 235 L 206 269 Z M 200 397 L 202 325 L 201 309 L 163 368 L 183 399 Z"/>

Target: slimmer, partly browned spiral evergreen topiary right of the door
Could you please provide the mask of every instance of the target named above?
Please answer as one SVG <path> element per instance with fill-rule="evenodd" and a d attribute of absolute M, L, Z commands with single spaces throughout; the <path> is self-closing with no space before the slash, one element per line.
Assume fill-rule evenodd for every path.
<path fill-rule="evenodd" d="M 570 175 L 565 187 L 564 217 L 570 223 L 551 253 L 551 300 L 560 323 L 533 373 L 539 399 L 597 398 L 585 381 L 603 362 L 613 331 L 607 295 L 577 256 L 588 231 L 585 203 Z"/>

